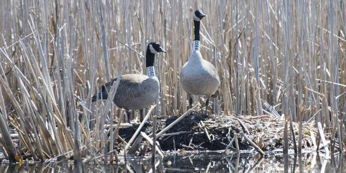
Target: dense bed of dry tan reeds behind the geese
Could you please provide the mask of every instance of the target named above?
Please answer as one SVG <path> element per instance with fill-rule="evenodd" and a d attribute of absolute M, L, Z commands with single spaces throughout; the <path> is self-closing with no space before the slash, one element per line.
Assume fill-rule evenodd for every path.
<path fill-rule="evenodd" d="M 320 122 L 329 147 L 345 148 L 344 0 L 1 0 L 5 156 L 87 162 L 126 154 L 109 142 L 121 140 L 120 123 L 104 130 L 124 111 L 91 96 L 121 74 L 145 74 L 149 42 L 168 51 L 156 57 L 161 91 L 152 115 L 185 113 L 178 74 L 191 52 L 195 9 L 207 14 L 201 53 L 221 80 L 215 114 L 272 114 L 286 120 L 286 134 L 291 121 Z M 13 128 L 18 142 L 9 140 Z"/>

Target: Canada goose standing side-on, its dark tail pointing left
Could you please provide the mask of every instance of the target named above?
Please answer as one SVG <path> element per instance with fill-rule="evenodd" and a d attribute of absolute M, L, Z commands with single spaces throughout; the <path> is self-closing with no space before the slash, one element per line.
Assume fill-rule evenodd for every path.
<path fill-rule="evenodd" d="M 128 74 L 121 77 L 117 92 L 114 96 L 114 103 L 120 108 L 126 109 L 127 121 L 130 123 L 130 110 L 142 109 L 152 104 L 159 95 L 160 84 L 156 77 L 154 60 L 155 54 L 166 52 L 159 43 L 149 43 L 146 50 L 147 74 Z M 97 99 L 107 99 L 108 92 L 117 78 L 102 85 L 98 92 L 92 96 L 91 101 Z M 140 116 L 142 118 L 142 116 Z"/>

